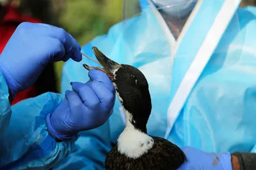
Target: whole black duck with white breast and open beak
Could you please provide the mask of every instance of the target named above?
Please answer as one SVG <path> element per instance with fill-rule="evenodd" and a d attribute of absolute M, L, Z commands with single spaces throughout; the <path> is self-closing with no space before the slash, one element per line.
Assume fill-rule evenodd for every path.
<path fill-rule="evenodd" d="M 106 170 L 175 170 L 186 162 L 186 155 L 172 142 L 147 134 L 152 110 L 148 82 L 136 67 L 118 64 L 93 46 L 93 53 L 104 67 L 93 67 L 108 74 L 115 86 L 126 117 L 124 131 L 106 155 Z M 90 70 L 92 67 L 83 64 Z M 156 80 L 157 81 L 157 80 Z"/>

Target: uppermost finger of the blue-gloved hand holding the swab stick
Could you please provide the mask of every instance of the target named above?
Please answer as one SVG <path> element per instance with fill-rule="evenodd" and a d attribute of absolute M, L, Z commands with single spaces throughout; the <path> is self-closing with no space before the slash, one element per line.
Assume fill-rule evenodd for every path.
<path fill-rule="evenodd" d="M 52 38 L 59 39 L 65 47 L 66 57 L 64 60 L 68 60 L 70 57 L 77 62 L 82 60 L 79 50 L 80 46 L 77 46 L 78 43 L 74 43 L 76 40 L 74 40 L 74 38 L 72 38 L 65 29 L 48 24 L 33 25 L 33 29 L 36 29 L 36 34 L 40 34 L 41 36 L 50 36 Z"/>

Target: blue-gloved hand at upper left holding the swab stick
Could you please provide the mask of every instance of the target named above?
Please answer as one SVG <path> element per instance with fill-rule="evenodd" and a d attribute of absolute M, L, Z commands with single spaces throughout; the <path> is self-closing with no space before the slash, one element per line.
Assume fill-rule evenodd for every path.
<path fill-rule="evenodd" d="M 47 24 L 20 24 L 0 55 L 0 71 L 12 96 L 28 89 L 49 62 L 82 60 L 81 47 L 70 34 Z"/>

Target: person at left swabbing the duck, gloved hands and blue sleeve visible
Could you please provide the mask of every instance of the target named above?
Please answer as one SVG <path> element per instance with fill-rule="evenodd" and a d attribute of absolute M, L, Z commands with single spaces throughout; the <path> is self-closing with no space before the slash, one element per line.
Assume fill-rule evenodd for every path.
<path fill-rule="evenodd" d="M 45 92 L 10 106 L 47 64 L 79 62 L 80 50 L 60 27 L 22 22 L 15 29 L 0 55 L 0 169 L 49 169 L 74 150 L 78 132 L 108 120 L 115 89 L 97 70 L 88 73 L 86 83 L 72 82 L 65 97 Z"/>

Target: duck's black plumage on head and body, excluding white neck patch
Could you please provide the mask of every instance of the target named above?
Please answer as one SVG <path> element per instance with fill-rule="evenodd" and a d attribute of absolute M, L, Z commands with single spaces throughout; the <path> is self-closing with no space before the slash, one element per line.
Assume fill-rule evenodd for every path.
<path fill-rule="evenodd" d="M 152 110 L 147 79 L 136 67 L 122 64 L 115 73 L 114 81 L 124 109 L 132 115 L 129 121 L 134 129 L 147 134 L 147 121 Z M 113 146 L 105 160 L 106 170 L 174 170 L 185 162 L 186 156 L 178 146 L 163 138 L 152 138 L 152 148 L 137 159 L 127 157 L 118 152 L 117 145 Z"/>

